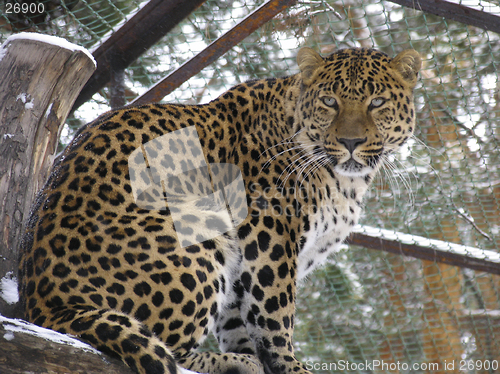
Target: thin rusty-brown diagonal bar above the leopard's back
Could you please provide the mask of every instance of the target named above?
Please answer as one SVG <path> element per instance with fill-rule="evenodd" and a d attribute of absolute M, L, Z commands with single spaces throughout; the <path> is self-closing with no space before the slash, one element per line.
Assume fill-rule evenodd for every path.
<path fill-rule="evenodd" d="M 276 14 L 282 12 L 295 2 L 296 0 L 270 0 L 263 4 L 198 55 L 185 62 L 142 96 L 136 98 L 133 104 L 160 101 L 193 75 L 215 62 L 220 56 L 271 20 Z"/>

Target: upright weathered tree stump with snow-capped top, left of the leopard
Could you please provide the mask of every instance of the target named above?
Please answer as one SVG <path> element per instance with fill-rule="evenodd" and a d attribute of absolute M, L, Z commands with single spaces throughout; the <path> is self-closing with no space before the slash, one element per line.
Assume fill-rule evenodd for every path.
<path fill-rule="evenodd" d="M 61 38 L 21 33 L 0 47 L 0 279 L 15 281 L 23 220 L 94 70 L 87 51 Z M 0 298 L 0 313 L 14 316 L 9 300 Z"/>

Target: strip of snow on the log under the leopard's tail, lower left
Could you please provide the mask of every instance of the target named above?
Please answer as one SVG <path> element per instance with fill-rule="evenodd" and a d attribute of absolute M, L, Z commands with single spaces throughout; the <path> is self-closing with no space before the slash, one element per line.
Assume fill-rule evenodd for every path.
<path fill-rule="evenodd" d="M 72 347 L 82 349 L 86 352 L 101 355 L 101 353 L 98 350 L 96 350 L 95 348 L 91 347 L 86 343 L 81 342 L 80 340 L 73 339 L 68 335 L 64 335 L 56 331 L 32 325 L 20 319 L 10 319 L 0 315 L 0 323 L 3 324 L 5 331 L 7 331 L 5 335 L 7 335 L 7 337 L 10 338 L 10 340 L 15 339 L 16 333 L 29 334 L 54 343 L 70 345 Z"/>

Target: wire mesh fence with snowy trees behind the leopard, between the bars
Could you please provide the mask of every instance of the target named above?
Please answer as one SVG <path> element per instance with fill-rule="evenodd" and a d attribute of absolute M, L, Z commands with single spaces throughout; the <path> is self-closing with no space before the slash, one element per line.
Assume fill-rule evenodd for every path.
<path fill-rule="evenodd" d="M 47 9 L 42 18 L 6 14 L 4 8 L 0 42 L 29 30 L 92 50 L 143 4 L 40 3 Z M 127 99 L 261 3 L 207 1 L 126 70 Z M 495 2 L 463 4 L 500 13 Z M 165 101 L 203 103 L 248 79 L 293 74 L 296 52 L 306 45 L 324 54 L 351 46 L 389 55 L 414 48 L 424 60 L 415 94 L 415 137 L 376 179 L 362 223 L 498 252 L 498 34 L 386 1 L 299 1 Z M 108 100 L 105 88 L 70 124 L 109 109 Z M 68 128 L 66 137 L 70 134 Z M 346 246 L 301 285 L 296 353 L 317 373 L 499 372 L 499 290 L 495 275 Z"/>

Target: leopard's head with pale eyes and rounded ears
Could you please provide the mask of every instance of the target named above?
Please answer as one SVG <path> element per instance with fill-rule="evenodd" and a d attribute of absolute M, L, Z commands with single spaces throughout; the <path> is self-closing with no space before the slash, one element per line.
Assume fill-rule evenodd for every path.
<path fill-rule="evenodd" d="M 352 48 L 323 58 L 303 48 L 297 62 L 297 140 L 322 165 L 348 177 L 372 175 L 413 134 L 413 88 L 421 67 L 416 51 L 391 59 Z"/>

